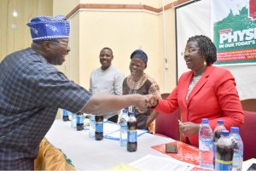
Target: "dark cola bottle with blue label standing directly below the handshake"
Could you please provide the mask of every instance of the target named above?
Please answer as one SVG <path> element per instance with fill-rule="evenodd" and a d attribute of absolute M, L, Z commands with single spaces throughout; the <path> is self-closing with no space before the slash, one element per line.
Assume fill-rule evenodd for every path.
<path fill-rule="evenodd" d="M 129 112 L 129 119 L 127 121 L 127 151 L 137 151 L 137 119 L 135 113 Z"/>

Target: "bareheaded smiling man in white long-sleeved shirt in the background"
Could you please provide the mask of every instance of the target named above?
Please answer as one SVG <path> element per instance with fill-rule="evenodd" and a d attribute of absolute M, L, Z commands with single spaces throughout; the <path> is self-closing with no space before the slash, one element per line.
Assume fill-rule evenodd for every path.
<path fill-rule="evenodd" d="M 113 51 L 111 48 L 102 48 L 100 52 L 101 67 L 96 68 L 90 73 L 90 93 L 92 94 L 122 94 L 122 84 L 124 74 L 111 64 Z M 108 121 L 117 123 L 119 111 L 108 113 L 104 118 Z"/>

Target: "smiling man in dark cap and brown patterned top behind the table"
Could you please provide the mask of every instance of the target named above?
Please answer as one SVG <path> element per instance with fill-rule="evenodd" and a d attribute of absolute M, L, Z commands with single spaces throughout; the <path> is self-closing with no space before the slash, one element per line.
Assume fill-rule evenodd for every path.
<path fill-rule="evenodd" d="M 154 94 L 155 97 L 160 99 L 159 85 L 154 81 L 154 78 L 149 77 L 144 70 L 147 68 L 148 55 L 141 49 L 135 50 L 131 54 L 130 71 L 131 75 L 125 77 L 123 83 L 123 94 Z M 154 132 L 154 118 L 157 112 L 151 113 L 148 107 L 146 111 L 140 111 L 133 107 L 136 112 L 137 128 L 148 129 L 149 133 Z M 151 115 L 150 115 L 151 113 Z M 150 117 L 149 117 L 150 115 Z"/>

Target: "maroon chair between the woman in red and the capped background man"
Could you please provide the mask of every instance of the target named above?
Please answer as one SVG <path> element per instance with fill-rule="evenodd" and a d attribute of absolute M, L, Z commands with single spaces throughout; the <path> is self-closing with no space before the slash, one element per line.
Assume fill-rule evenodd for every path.
<path fill-rule="evenodd" d="M 169 94 L 161 94 L 162 99 L 166 99 Z M 178 122 L 179 110 L 172 113 L 159 113 L 155 118 L 155 134 L 170 137 L 173 140 L 179 140 Z"/>

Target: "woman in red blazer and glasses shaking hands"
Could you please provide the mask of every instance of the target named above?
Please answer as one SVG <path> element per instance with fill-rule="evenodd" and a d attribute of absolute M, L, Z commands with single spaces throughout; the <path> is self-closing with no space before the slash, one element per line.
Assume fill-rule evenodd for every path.
<path fill-rule="evenodd" d="M 201 118 L 209 119 L 212 130 L 218 119 L 224 120 L 227 129 L 241 127 L 244 116 L 235 79 L 230 71 L 212 66 L 217 52 L 211 39 L 190 37 L 184 60 L 191 71 L 183 73 L 166 100 L 152 101 L 154 110 L 171 113 L 178 107 L 183 122 L 179 125 L 183 141 L 195 146 L 198 146 Z"/>

